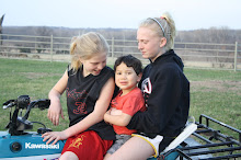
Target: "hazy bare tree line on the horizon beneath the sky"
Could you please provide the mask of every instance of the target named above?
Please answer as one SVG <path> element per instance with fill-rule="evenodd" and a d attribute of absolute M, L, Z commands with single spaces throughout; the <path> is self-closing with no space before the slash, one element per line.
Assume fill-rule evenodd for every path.
<path fill-rule="evenodd" d="M 69 28 L 54 26 L 2 26 L 2 34 L 72 37 L 87 32 L 99 32 L 105 38 L 136 39 L 136 28 Z M 3 38 L 5 38 L 3 36 Z M 21 38 L 21 37 L 19 37 Z M 241 43 L 241 30 L 210 27 L 192 31 L 177 31 L 175 42 L 181 43 Z"/>

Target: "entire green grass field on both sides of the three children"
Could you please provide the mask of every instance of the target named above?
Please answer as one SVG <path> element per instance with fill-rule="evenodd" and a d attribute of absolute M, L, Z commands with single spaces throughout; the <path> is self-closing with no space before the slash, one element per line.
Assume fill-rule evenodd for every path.
<path fill-rule="evenodd" d="M 27 94 L 31 100 L 46 99 L 68 64 L 0 58 L 0 104 Z M 206 114 L 241 129 L 241 71 L 185 69 L 191 81 L 191 111 L 196 121 Z M 53 126 L 47 111 L 32 110 L 30 121 L 39 121 L 54 130 L 68 127 L 66 98 L 61 98 L 65 119 Z M 24 111 L 23 111 L 24 113 Z M 9 110 L 0 108 L 0 130 L 9 122 Z M 36 128 L 42 127 L 36 125 Z"/>

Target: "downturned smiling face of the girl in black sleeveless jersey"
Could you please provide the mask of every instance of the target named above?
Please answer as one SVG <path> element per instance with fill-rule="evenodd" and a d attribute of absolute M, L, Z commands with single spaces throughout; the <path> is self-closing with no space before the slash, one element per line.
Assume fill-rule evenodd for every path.
<path fill-rule="evenodd" d="M 106 53 L 99 53 L 92 56 L 90 59 L 81 60 L 83 65 L 83 77 L 92 73 L 93 76 L 97 76 L 101 70 L 106 66 Z"/>

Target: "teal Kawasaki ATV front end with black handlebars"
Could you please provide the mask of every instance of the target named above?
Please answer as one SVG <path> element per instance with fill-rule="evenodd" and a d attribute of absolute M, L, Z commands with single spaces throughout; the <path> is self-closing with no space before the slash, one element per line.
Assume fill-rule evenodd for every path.
<path fill-rule="evenodd" d="M 28 95 L 20 95 L 16 100 L 9 100 L 3 103 L 3 108 L 10 108 L 10 122 L 7 132 L 0 132 L 0 159 L 3 160 L 54 160 L 58 159 L 65 141 L 59 140 L 56 145 L 46 145 L 42 134 L 51 132 L 41 122 L 27 121 L 32 108 L 45 110 L 50 105 L 50 100 L 30 100 Z M 14 112 L 12 114 L 12 107 Z M 24 116 L 19 112 L 26 110 Z M 33 124 L 43 125 L 37 132 L 25 132 L 33 129 Z"/>

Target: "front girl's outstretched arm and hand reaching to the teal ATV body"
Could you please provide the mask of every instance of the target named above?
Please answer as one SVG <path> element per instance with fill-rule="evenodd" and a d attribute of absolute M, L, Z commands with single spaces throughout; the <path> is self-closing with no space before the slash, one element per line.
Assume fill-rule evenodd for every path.
<path fill-rule="evenodd" d="M 44 141 L 48 139 L 46 144 L 49 144 L 54 140 L 53 145 L 58 140 L 67 139 L 73 135 L 77 135 L 92 125 L 103 121 L 104 114 L 107 111 L 110 102 L 112 100 L 113 93 L 115 89 L 114 78 L 110 78 L 108 81 L 103 87 L 100 98 L 95 103 L 94 111 L 90 113 L 87 117 L 84 117 L 81 122 L 76 125 L 62 130 L 62 132 L 51 132 L 46 133 L 42 137 L 44 137 Z"/>

